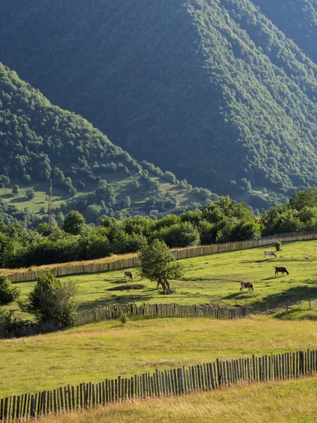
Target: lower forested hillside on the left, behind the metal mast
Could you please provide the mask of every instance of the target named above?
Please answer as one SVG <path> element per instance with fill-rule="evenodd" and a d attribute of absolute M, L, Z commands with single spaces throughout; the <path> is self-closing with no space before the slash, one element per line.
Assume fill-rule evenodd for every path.
<path fill-rule="evenodd" d="M 130 209 L 187 209 L 215 197 L 148 162 L 137 163 L 84 118 L 52 105 L 1 63 L 0 87 L 0 221 L 8 223 L 12 216 L 35 223 L 34 213 L 45 216 L 49 179 L 56 218 L 75 208 L 94 223 Z"/>

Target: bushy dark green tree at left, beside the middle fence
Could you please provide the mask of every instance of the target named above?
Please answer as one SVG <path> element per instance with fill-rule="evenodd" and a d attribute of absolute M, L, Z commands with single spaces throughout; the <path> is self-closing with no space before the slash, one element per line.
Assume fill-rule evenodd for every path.
<path fill-rule="evenodd" d="M 70 326 L 76 309 L 75 294 L 72 281 L 62 282 L 48 271 L 39 274 L 27 300 L 18 303 L 23 312 L 35 314 L 39 321 L 58 320 Z"/>

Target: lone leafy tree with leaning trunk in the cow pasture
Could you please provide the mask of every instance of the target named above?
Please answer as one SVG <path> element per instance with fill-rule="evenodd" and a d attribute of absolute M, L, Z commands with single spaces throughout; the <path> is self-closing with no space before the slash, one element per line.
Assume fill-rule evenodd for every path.
<path fill-rule="evenodd" d="M 139 250 L 139 274 L 150 281 L 157 281 L 156 288 L 161 285 L 164 294 L 170 294 L 170 283 L 168 279 L 177 279 L 184 274 L 184 266 L 176 262 L 175 257 L 170 254 L 166 243 L 154 240 L 150 245 L 144 245 Z"/>

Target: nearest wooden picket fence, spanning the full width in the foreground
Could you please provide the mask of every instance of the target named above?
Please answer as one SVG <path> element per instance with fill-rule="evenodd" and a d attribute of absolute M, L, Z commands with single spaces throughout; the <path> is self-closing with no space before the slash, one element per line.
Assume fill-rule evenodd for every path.
<path fill-rule="evenodd" d="M 0 421 L 25 422 L 50 413 L 71 412 L 95 405 L 119 403 L 124 400 L 180 396 L 199 391 L 211 391 L 238 382 L 280 381 L 316 374 L 317 351 L 297 351 L 237 360 L 216 360 L 177 369 L 156 369 L 155 372 L 135 374 L 130 378 L 118 376 L 97 384 L 82 383 L 63 386 L 39 393 L 25 393 L 0 400 Z"/>

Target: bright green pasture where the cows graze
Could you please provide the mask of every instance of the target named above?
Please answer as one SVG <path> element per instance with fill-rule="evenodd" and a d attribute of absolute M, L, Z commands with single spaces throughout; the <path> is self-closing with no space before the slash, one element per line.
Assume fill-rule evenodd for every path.
<path fill-rule="evenodd" d="M 67 276 L 77 283 L 80 309 L 123 302 L 178 302 L 179 304 L 247 305 L 265 312 L 285 308 L 287 300 L 303 309 L 317 309 L 317 240 L 285 243 L 277 259 L 263 259 L 263 247 L 184 259 L 185 275 L 171 281 L 175 292 L 162 295 L 156 283 L 141 279 L 130 269 L 133 282 L 123 270 Z M 274 266 L 286 266 L 290 275 L 275 276 Z M 240 293 L 240 281 L 254 283 L 254 292 Z M 35 282 L 18 283 L 24 297 Z M 18 311 L 13 303 L 9 308 Z M 311 312 L 311 318 L 316 312 Z"/>

